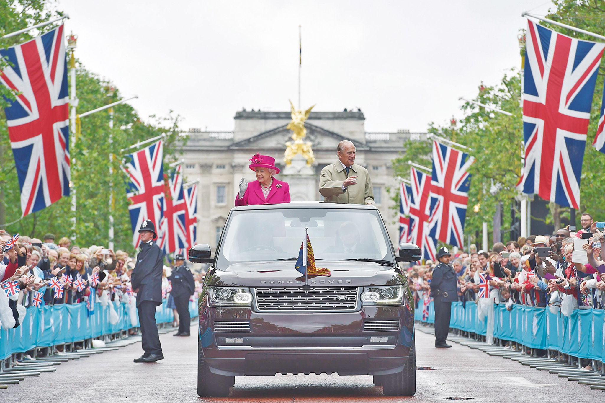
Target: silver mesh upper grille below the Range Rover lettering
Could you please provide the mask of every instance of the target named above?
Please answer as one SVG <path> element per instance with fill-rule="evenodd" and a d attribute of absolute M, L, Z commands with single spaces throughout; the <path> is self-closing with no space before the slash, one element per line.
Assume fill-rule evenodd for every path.
<path fill-rule="evenodd" d="M 255 296 L 259 312 L 347 312 L 357 309 L 358 287 L 262 287 Z"/>

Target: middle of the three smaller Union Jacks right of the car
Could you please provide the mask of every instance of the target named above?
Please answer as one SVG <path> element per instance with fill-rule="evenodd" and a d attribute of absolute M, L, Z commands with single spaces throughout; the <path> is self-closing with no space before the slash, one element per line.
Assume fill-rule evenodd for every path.
<path fill-rule="evenodd" d="M 420 247 L 424 259 L 435 261 L 437 242 L 433 234 L 430 234 L 429 228 L 431 178 L 416 168 L 410 168 L 410 182 L 411 193 L 408 195 L 410 198 L 408 240 Z"/>

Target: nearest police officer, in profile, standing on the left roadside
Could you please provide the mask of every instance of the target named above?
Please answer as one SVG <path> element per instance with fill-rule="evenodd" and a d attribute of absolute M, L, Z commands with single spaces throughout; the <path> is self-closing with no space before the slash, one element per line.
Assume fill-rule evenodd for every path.
<path fill-rule="evenodd" d="M 164 359 L 155 324 L 155 307 L 162 304 L 164 252 L 153 241 L 157 234 L 151 220 L 143 221 L 139 236 L 140 252 L 130 281 L 132 290 L 137 293 L 141 344 L 145 353 L 134 362 L 155 362 Z"/>

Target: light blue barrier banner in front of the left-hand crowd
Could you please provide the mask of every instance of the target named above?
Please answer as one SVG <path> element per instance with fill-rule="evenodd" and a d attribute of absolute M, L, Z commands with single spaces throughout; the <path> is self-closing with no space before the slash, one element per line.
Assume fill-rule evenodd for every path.
<path fill-rule="evenodd" d="M 113 325 L 110 323 L 109 304 L 113 304 L 117 314 L 117 322 Z M 85 303 L 28 307 L 21 326 L 8 330 L 0 327 L 0 359 L 11 353 L 27 352 L 36 346 L 82 341 L 139 326 L 136 310 L 132 311 L 137 315 L 133 326 L 129 306 L 119 301 L 110 301 L 109 304 L 104 307 L 97 300 L 92 315 L 88 314 Z M 189 301 L 189 313 L 192 318 L 197 316 L 197 301 Z M 155 321 L 170 323 L 173 319 L 172 309 L 163 300 L 155 310 Z"/>

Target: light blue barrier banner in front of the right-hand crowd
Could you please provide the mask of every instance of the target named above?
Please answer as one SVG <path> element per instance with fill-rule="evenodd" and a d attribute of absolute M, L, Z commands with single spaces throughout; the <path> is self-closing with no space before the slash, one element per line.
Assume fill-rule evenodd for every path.
<path fill-rule="evenodd" d="M 422 307 L 422 301 L 419 306 Z M 433 303 L 430 304 L 433 308 Z M 422 309 L 414 318 L 422 320 Z M 434 319 L 433 319 L 434 321 Z M 477 317 L 477 304 L 452 303 L 450 327 L 486 335 L 487 319 Z M 558 350 L 579 358 L 605 361 L 605 311 L 577 309 L 571 316 L 552 313 L 548 308 L 514 304 L 507 310 L 504 304 L 494 305 L 494 337 L 511 340 L 532 349 Z"/>

